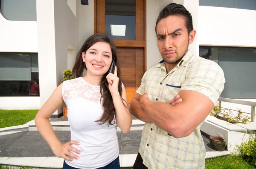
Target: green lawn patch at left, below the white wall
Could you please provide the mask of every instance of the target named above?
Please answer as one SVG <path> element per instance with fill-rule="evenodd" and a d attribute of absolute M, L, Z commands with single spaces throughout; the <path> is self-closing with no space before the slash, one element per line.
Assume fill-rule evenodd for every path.
<path fill-rule="evenodd" d="M 0 128 L 22 125 L 35 118 L 38 110 L 0 110 Z"/>

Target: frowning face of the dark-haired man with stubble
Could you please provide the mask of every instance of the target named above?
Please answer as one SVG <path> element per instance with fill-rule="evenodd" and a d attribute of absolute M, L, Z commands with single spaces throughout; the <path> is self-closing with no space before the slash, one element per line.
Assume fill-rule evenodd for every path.
<path fill-rule="evenodd" d="M 157 24 L 157 46 L 165 63 L 179 62 L 186 54 L 189 43 L 195 37 L 195 30 L 188 34 L 186 18 L 180 15 L 170 15 Z"/>

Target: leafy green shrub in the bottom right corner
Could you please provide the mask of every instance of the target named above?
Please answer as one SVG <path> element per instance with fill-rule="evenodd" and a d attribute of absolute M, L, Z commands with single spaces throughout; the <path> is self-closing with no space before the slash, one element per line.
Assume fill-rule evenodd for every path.
<path fill-rule="evenodd" d="M 241 143 L 241 146 L 237 146 L 241 158 L 247 163 L 254 164 L 256 167 L 256 132 L 249 134 L 250 138 L 247 142 Z"/>

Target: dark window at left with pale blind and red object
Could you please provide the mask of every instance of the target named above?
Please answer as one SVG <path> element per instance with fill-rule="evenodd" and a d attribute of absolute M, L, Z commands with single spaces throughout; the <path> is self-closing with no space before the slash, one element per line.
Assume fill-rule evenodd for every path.
<path fill-rule="evenodd" d="M 39 96 L 38 54 L 0 53 L 0 97 Z"/>

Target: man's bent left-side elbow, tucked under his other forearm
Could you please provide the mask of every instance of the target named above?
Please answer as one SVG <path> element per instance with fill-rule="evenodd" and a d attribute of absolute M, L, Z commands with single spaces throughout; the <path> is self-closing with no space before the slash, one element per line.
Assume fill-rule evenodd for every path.
<path fill-rule="evenodd" d="M 134 99 L 131 101 L 130 112 L 137 119 L 147 122 L 147 123 L 152 123 L 152 120 L 148 117 L 147 113 L 140 106 L 140 102 L 138 100 Z"/>

